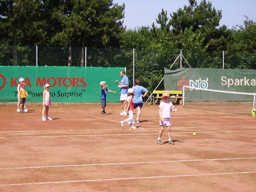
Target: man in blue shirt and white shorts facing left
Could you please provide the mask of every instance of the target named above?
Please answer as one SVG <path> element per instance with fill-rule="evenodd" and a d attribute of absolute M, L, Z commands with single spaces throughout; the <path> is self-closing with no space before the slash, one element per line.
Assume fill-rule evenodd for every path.
<path fill-rule="evenodd" d="M 125 76 L 125 70 L 121 70 L 120 75 L 122 77 L 121 82 L 115 82 L 118 84 L 118 88 L 120 88 L 120 101 L 122 101 L 122 104 L 124 104 L 127 99 L 129 79 L 127 76 Z M 126 109 L 126 106 L 124 106 L 124 109 Z M 123 111 L 119 115 L 127 115 L 127 113 Z"/>

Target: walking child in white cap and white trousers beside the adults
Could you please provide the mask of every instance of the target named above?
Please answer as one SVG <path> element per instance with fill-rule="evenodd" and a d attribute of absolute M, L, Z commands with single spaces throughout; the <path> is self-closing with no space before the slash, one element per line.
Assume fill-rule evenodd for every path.
<path fill-rule="evenodd" d="M 128 105 L 125 109 L 125 112 L 129 113 L 129 118 L 125 119 L 125 121 L 120 121 L 122 128 L 124 128 L 124 125 L 125 125 L 126 122 L 128 124 L 130 124 L 130 129 L 136 129 L 137 128 L 137 127 L 132 125 L 132 124 L 135 123 L 134 118 L 133 118 L 133 110 L 134 110 L 133 96 L 134 96 L 134 90 L 129 88 L 128 89 L 128 97 L 127 97 L 126 101 L 123 103 L 123 105 L 121 107 L 121 108 L 124 108 L 125 104 L 128 103 Z"/>

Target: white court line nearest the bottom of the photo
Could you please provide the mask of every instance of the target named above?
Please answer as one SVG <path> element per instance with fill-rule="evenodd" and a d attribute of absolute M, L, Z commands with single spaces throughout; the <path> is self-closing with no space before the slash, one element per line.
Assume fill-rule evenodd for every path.
<path fill-rule="evenodd" d="M 75 183 L 75 182 L 121 181 L 121 180 L 131 180 L 131 179 L 156 179 L 156 178 L 172 178 L 172 177 L 198 177 L 198 176 L 232 175 L 232 174 L 249 174 L 249 173 L 256 173 L 256 171 L 251 171 L 251 172 L 229 172 L 229 173 L 208 173 L 208 174 L 195 174 L 195 175 L 166 175 L 166 176 L 152 176 L 152 177 L 129 177 L 129 178 L 113 178 L 113 179 L 89 179 L 89 180 L 60 181 L 60 182 L 13 183 L 13 184 L 2 184 L 0 186 L 43 185 L 43 184 Z"/>

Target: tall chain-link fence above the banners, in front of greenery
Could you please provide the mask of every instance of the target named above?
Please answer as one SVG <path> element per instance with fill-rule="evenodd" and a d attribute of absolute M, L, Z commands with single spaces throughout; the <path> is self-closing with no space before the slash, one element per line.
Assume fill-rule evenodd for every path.
<path fill-rule="evenodd" d="M 133 50 L 91 47 L 18 46 L 17 65 L 126 67 L 130 82 L 132 82 L 133 78 L 140 79 L 141 85 L 147 88 L 149 92 L 152 92 L 161 81 L 164 76 L 164 67 L 172 67 L 173 70 L 181 66 L 192 68 L 256 69 L 256 52 L 200 52 L 183 50 L 181 57 L 181 52 L 177 53 L 172 50 L 135 49 L 134 54 Z M 0 52 L 0 65 L 13 66 L 13 63 L 13 47 L 4 47 Z M 158 89 L 164 89 L 164 84 L 159 84 Z"/>

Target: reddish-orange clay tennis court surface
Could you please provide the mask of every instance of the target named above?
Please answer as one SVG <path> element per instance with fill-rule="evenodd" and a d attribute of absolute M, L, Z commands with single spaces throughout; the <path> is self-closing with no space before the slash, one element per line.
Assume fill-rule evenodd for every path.
<path fill-rule="evenodd" d="M 135 130 L 121 129 L 120 103 L 107 116 L 99 104 L 52 104 L 46 122 L 40 104 L 16 107 L 0 106 L 1 192 L 256 191 L 251 104 L 175 105 L 175 145 L 166 134 L 156 144 L 155 104 L 144 104 Z"/>

